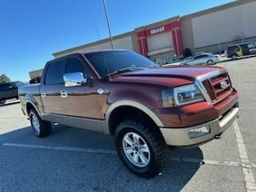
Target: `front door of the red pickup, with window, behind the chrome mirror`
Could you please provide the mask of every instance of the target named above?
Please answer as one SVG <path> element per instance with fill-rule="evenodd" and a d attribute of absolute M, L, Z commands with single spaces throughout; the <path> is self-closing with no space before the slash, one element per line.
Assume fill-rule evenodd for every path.
<path fill-rule="evenodd" d="M 96 90 L 96 81 L 88 65 L 82 62 L 82 58 L 74 56 L 68 58 L 65 74 L 80 72 L 84 78 L 92 79 L 90 85 L 66 87 L 66 98 L 63 98 L 65 114 L 79 118 L 101 118 L 98 106 L 98 93 Z"/>

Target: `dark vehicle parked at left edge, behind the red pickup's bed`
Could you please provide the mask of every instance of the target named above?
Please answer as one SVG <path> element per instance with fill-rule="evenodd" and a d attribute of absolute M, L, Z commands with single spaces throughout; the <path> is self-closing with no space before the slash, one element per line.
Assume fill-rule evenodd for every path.
<path fill-rule="evenodd" d="M 18 87 L 24 86 L 23 82 L 8 82 L 0 84 L 0 104 L 6 102 L 7 99 L 18 99 Z"/>

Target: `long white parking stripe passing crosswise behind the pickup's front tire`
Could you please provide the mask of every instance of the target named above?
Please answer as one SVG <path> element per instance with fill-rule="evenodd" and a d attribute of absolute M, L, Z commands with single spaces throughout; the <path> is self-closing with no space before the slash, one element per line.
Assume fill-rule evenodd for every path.
<path fill-rule="evenodd" d="M 78 147 L 66 147 L 66 146 L 38 146 L 38 145 L 27 145 L 27 144 L 18 144 L 18 143 L 3 143 L 2 146 L 14 146 L 14 147 L 23 147 L 23 148 L 34 148 L 42 150 L 66 150 L 74 152 L 84 152 L 91 154 L 116 154 L 115 150 L 96 150 L 96 149 L 85 149 Z M 256 168 L 256 165 L 249 163 L 240 163 L 240 162 L 219 162 L 209 159 L 200 159 L 200 158 L 182 158 L 182 157 L 170 157 L 170 161 L 173 162 L 192 162 L 197 164 L 208 164 L 208 165 L 217 165 L 217 166 L 244 166 Z"/>

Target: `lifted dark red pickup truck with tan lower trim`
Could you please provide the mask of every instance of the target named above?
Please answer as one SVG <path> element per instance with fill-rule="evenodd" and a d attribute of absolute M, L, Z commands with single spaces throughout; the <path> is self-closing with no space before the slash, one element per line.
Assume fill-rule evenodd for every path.
<path fill-rule="evenodd" d="M 168 147 L 198 146 L 238 117 L 238 93 L 217 66 L 158 66 L 129 50 L 66 55 L 46 63 L 41 84 L 18 89 L 38 137 L 51 123 L 114 135 L 122 162 L 160 173 Z"/>

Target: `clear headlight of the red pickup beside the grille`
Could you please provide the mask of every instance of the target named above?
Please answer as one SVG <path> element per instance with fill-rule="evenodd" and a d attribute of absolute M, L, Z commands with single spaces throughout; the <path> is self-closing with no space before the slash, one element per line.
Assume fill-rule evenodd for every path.
<path fill-rule="evenodd" d="M 170 90 L 162 91 L 162 106 L 182 106 L 193 102 L 202 102 L 205 99 L 198 87 L 194 84 L 178 86 Z"/>

